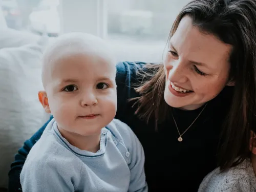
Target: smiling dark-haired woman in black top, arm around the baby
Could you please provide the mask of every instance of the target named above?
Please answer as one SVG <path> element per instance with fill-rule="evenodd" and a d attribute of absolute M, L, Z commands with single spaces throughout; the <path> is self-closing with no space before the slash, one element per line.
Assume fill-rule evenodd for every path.
<path fill-rule="evenodd" d="M 170 31 L 163 64 L 118 63 L 116 118 L 142 143 L 149 191 L 197 191 L 218 158 L 225 170 L 247 157 L 232 141 L 249 140 L 256 124 L 255 18 L 255 0 L 194 0 Z M 45 127 L 16 154 L 10 191 Z"/>

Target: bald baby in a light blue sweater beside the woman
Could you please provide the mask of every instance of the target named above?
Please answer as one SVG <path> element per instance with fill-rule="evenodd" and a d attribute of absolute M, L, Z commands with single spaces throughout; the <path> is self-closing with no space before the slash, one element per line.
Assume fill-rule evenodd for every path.
<path fill-rule="evenodd" d="M 53 119 L 20 174 L 23 191 L 147 191 L 143 148 L 114 119 L 115 60 L 105 42 L 84 33 L 56 39 L 42 63 L 39 100 Z"/>

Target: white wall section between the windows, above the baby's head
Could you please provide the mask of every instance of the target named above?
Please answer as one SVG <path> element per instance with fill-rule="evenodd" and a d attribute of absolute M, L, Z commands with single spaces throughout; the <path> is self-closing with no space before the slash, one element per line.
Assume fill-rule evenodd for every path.
<path fill-rule="evenodd" d="M 61 0 L 61 33 L 86 32 L 105 38 L 107 34 L 107 0 Z"/>

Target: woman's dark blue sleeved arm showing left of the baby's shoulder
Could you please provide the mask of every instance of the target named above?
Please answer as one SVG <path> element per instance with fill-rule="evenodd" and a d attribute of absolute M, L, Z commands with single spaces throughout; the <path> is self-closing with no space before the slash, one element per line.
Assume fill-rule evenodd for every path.
<path fill-rule="evenodd" d="M 20 148 L 18 150 L 18 153 L 15 155 L 14 162 L 11 164 L 11 170 L 9 172 L 9 192 L 22 191 L 20 189 L 21 185 L 19 180 L 20 172 L 22 172 L 22 167 L 32 146 L 41 137 L 42 132 L 44 132 L 47 124 L 51 121 L 52 118 L 53 117 L 51 116 L 50 119 L 29 140 L 25 141 L 23 147 Z"/>

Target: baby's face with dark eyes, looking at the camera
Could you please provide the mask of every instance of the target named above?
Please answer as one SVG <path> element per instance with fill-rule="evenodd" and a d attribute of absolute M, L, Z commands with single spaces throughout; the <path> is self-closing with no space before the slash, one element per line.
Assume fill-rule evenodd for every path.
<path fill-rule="evenodd" d="M 77 54 L 50 66 L 46 92 L 58 127 L 82 136 L 98 134 L 116 114 L 115 64 Z"/>

